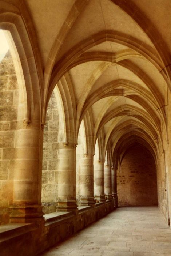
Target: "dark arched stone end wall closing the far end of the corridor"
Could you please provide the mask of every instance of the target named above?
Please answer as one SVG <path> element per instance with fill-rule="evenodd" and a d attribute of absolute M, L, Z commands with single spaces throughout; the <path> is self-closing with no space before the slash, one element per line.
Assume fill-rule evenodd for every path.
<path fill-rule="evenodd" d="M 140 146 L 131 147 L 117 173 L 118 206 L 157 205 L 157 177 L 152 155 Z"/>

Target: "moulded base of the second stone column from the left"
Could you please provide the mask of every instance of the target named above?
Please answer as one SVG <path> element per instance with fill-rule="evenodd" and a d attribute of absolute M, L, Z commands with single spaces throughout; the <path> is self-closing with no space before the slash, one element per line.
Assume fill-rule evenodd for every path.
<path fill-rule="evenodd" d="M 76 200 L 59 201 L 57 202 L 56 211 L 72 211 L 77 212 L 78 206 Z"/>

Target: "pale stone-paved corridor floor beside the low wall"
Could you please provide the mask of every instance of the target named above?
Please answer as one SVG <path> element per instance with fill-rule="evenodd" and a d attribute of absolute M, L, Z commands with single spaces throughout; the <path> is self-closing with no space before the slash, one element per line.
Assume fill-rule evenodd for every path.
<path fill-rule="evenodd" d="M 171 229 L 157 207 L 122 207 L 43 256 L 171 256 Z"/>

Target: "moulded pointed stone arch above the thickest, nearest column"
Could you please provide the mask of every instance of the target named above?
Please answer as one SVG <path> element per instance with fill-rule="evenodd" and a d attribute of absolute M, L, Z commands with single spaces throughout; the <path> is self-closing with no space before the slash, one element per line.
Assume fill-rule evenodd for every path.
<path fill-rule="evenodd" d="M 27 119 L 41 120 L 43 69 L 35 30 L 24 1 L 0 1 L 0 29 L 11 33 L 15 43 L 27 91 Z M 22 13 L 22 16 L 21 16 Z"/>

